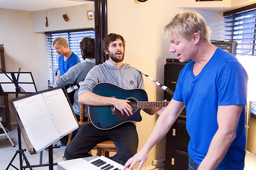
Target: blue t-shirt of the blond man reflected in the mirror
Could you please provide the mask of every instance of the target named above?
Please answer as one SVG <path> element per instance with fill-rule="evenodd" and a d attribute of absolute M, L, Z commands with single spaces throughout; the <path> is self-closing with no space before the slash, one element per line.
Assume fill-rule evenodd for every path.
<path fill-rule="evenodd" d="M 64 56 L 59 57 L 58 59 L 58 67 L 60 70 L 60 75 L 62 76 L 64 73 L 68 71 L 69 68 L 73 67 L 77 63 L 81 62 L 79 57 L 72 52 L 70 57 L 66 61 L 64 61 Z"/>

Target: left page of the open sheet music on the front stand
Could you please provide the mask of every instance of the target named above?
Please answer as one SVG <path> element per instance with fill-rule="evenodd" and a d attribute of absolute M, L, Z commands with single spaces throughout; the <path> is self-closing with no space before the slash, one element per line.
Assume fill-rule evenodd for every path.
<path fill-rule="evenodd" d="M 59 138 L 60 134 L 55 128 L 42 94 L 15 101 L 14 105 L 37 152 L 45 146 L 48 147 L 52 140 Z"/>

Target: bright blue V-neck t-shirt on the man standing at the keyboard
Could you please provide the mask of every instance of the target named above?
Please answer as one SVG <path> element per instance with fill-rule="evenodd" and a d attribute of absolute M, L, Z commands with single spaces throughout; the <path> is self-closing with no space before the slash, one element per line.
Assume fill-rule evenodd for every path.
<path fill-rule="evenodd" d="M 221 105 L 246 105 L 248 76 L 232 54 L 217 48 L 201 72 L 193 74 L 194 61 L 188 62 L 180 75 L 172 99 L 184 102 L 186 129 L 191 137 L 189 156 L 197 164 L 207 154 L 218 130 L 217 111 Z M 245 156 L 245 111 L 236 130 L 236 138 L 216 170 L 241 170 Z"/>

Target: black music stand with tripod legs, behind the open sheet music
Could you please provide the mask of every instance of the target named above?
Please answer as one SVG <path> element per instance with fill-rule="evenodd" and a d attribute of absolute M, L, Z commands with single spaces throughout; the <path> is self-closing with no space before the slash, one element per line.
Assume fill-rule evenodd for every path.
<path fill-rule="evenodd" d="M 20 69 L 18 72 L 0 72 L 0 90 L 1 93 L 7 93 L 7 94 L 16 94 L 16 98 L 18 97 L 18 94 L 31 94 L 37 92 L 36 86 L 34 79 L 32 77 L 31 72 L 20 72 Z M 49 164 L 40 164 L 40 165 L 30 165 L 28 159 L 26 158 L 25 151 L 26 149 L 22 149 L 21 146 L 21 129 L 20 127 L 22 126 L 22 123 L 19 121 L 20 119 L 18 116 L 15 115 L 15 118 L 18 122 L 17 126 L 17 133 L 18 133 L 18 144 L 19 144 L 19 149 L 16 150 L 15 155 L 13 156 L 12 160 L 10 161 L 9 165 L 7 166 L 6 170 L 9 169 L 10 166 L 15 167 L 12 162 L 16 158 L 17 154 L 19 154 L 19 159 L 20 159 L 20 170 L 24 170 L 26 168 L 29 168 L 32 170 L 32 167 L 41 167 L 41 166 L 48 166 L 49 165 L 49 170 L 53 170 L 53 151 L 52 151 L 52 145 L 49 146 Z M 28 143 L 26 136 L 24 137 L 24 140 L 26 144 Z M 28 144 L 27 144 L 28 145 Z M 29 149 L 29 152 L 31 154 L 34 154 L 33 148 Z M 26 166 L 23 166 L 23 161 L 24 159 Z M 56 165 L 56 164 L 55 164 Z"/>

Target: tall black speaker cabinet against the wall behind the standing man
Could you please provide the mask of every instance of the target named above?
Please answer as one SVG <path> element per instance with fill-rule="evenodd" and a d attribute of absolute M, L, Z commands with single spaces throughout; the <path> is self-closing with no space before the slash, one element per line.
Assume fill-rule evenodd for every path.
<path fill-rule="evenodd" d="M 181 69 L 186 63 L 177 59 L 166 59 L 164 65 L 164 85 L 175 91 Z M 172 95 L 164 91 L 164 99 L 170 101 Z M 189 135 L 186 131 L 186 110 L 180 113 L 169 132 L 166 134 L 166 170 L 187 170 Z"/>

